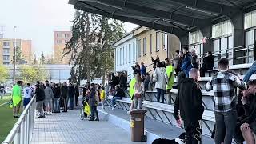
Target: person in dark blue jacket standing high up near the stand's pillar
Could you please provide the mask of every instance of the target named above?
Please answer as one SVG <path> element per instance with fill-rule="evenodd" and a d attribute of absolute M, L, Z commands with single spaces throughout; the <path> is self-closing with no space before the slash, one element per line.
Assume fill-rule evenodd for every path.
<path fill-rule="evenodd" d="M 191 62 L 192 57 L 189 53 L 189 48 L 188 47 L 183 47 L 182 50 L 183 50 L 184 56 L 183 56 L 183 59 L 182 59 L 181 69 L 186 74 L 186 78 L 188 78 L 189 77 L 189 71 L 190 71 L 190 69 L 193 68 L 192 62 Z"/>

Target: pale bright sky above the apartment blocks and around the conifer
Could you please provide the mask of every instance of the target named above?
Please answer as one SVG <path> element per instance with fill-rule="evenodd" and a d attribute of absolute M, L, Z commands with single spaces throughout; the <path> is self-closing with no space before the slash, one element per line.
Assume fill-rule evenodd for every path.
<path fill-rule="evenodd" d="M 70 30 L 74 11 L 68 0 L 1 0 L 0 26 L 4 38 L 31 39 L 34 54 L 53 54 L 54 30 Z M 135 27 L 126 22 L 124 29 Z"/>

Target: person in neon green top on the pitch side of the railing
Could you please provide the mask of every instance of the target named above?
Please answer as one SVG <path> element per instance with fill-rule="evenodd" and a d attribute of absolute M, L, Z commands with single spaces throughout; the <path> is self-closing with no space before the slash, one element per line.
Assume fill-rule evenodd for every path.
<path fill-rule="evenodd" d="M 14 105 L 14 109 L 13 109 L 14 118 L 19 117 L 18 114 L 21 107 L 21 103 L 22 103 L 22 90 L 20 86 L 22 86 L 22 81 L 18 81 L 17 84 L 13 87 L 13 91 L 12 91 L 12 99 L 13 99 L 13 105 Z"/>

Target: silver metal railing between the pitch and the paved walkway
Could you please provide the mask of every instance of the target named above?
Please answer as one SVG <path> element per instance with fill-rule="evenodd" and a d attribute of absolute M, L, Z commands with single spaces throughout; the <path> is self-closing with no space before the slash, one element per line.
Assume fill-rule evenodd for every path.
<path fill-rule="evenodd" d="M 34 95 L 2 144 L 30 144 L 34 128 L 35 105 Z"/>

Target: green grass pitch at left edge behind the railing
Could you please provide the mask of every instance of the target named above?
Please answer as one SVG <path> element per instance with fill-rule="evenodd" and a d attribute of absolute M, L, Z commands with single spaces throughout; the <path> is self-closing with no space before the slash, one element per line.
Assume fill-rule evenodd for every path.
<path fill-rule="evenodd" d="M 8 104 L 2 105 L 9 101 L 10 96 L 0 98 L 0 143 L 6 138 L 7 134 L 13 128 L 14 123 L 18 120 L 18 118 L 13 117 L 12 109 L 9 108 Z"/>

